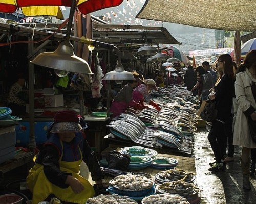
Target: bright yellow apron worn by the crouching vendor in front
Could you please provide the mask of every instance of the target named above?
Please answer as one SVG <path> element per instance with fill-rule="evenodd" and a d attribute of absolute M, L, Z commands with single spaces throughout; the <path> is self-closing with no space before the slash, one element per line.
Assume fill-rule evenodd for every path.
<path fill-rule="evenodd" d="M 60 141 L 60 143 L 63 149 L 62 141 Z M 82 152 L 80 148 L 79 151 L 82 157 Z M 78 179 L 83 184 L 83 191 L 79 194 L 75 194 L 70 186 L 68 188 L 60 188 L 52 184 L 45 176 L 44 166 L 36 163 L 29 170 L 29 175 L 27 177 L 27 186 L 33 193 L 32 204 L 38 204 L 39 202 L 44 201 L 50 194 L 54 194 L 54 196 L 61 201 L 81 204 L 84 204 L 88 198 L 94 196 L 95 192 L 92 185 L 86 179 L 79 175 L 79 166 L 82 162 L 82 158 L 78 161 L 66 162 L 61 161 L 62 156 L 63 151 L 59 158 L 60 170 L 72 173 L 72 176 Z"/>

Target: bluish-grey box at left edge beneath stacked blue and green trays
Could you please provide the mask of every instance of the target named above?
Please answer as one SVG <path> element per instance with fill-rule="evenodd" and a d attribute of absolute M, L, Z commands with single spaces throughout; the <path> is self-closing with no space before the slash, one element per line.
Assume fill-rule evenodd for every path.
<path fill-rule="evenodd" d="M 0 163 L 15 157 L 15 126 L 0 128 Z"/>

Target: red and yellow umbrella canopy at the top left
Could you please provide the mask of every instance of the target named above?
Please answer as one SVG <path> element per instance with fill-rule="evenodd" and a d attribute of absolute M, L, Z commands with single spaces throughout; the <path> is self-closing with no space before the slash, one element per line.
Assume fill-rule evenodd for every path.
<path fill-rule="evenodd" d="M 104 8 L 118 6 L 123 0 L 79 0 L 77 8 L 88 14 Z M 0 12 L 13 13 L 21 9 L 25 16 L 57 16 L 59 6 L 71 7 L 72 0 L 0 0 Z"/>

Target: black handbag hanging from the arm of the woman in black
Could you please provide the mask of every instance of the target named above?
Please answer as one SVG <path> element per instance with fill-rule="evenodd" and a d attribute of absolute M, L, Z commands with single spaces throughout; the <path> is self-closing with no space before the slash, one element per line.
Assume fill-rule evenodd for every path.
<path fill-rule="evenodd" d="M 213 122 L 217 117 L 217 109 L 215 108 L 215 100 L 206 100 L 204 109 L 200 113 L 200 117 L 206 122 Z"/>

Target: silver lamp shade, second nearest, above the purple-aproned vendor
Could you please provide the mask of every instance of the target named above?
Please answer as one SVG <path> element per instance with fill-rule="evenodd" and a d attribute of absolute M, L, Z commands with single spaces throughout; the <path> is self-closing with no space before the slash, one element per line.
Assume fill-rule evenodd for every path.
<path fill-rule="evenodd" d="M 136 80 L 133 74 L 125 71 L 123 66 L 118 63 L 114 71 L 105 74 L 103 80 Z"/>

